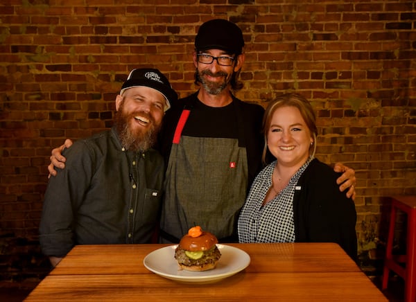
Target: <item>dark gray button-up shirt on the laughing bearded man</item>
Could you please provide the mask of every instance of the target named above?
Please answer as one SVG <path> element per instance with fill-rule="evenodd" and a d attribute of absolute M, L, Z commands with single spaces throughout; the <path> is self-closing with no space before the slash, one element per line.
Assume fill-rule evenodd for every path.
<path fill-rule="evenodd" d="M 164 163 L 155 150 L 124 150 L 113 127 L 64 150 L 40 223 L 46 256 L 73 245 L 150 242 L 162 202 Z"/>

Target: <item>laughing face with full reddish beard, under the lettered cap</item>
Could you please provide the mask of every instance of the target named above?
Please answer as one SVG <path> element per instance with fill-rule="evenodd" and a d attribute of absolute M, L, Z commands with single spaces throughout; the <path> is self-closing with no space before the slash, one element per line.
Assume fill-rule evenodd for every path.
<path fill-rule="evenodd" d="M 132 87 L 116 97 L 116 129 L 123 147 L 145 151 L 156 140 L 166 99 L 150 87 Z"/>

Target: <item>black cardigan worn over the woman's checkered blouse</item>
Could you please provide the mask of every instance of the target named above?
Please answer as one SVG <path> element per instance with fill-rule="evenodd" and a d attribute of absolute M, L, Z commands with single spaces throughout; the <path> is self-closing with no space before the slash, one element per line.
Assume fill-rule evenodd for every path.
<path fill-rule="evenodd" d="M 354 201 L 340 192 L 331 167 L 313 159 L 304 171 L 293 198 L 297 242 L 336 242 L 357 260 Z"/>

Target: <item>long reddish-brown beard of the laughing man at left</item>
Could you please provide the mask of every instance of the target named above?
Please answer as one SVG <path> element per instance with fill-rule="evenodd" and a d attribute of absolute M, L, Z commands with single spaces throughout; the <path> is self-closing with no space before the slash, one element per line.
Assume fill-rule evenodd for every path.
<path fill-rule="evenodd" d="M 157 139 L 157 132 L 159 132 L 160 125 L 156 125 L 155 119 L 147 112 L 132 112 L 128 114 L 123 110 L 124 101 L 121 102 L 119 111 L 116 112 L 115 124 L 116 130 L 119 133 L 121 145 L 127 150 L 134 152 L 144 152 L 153 145 Z M 148 118 L 150 127 L 143 129 L 137 127 L 136 129 L 130 125 L 134 121 L 135 116 L 145 116 Z"/>

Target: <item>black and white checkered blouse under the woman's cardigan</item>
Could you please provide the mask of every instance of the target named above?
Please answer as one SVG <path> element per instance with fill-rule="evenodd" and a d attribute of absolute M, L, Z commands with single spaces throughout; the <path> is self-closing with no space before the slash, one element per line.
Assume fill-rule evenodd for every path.
<path fill-rule="evenodd" d="M 272 173 L 277 161 L 264 168 L 250 188 L 239 217 L 239 242 L 294 242 L 293 195 L 300 176 L 312 158 L 293 175 L 286 188 L 263 206 L 272 186 Z"/>

